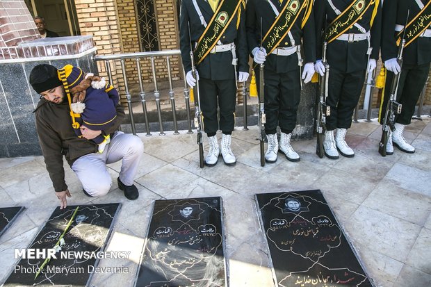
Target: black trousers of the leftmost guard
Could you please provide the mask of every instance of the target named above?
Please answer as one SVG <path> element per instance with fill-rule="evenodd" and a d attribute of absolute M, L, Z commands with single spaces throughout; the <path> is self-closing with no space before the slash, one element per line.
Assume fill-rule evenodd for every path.
<path fill-rule="evenodd" d="M 212 81 L 200 78 L 199 89 L 200 109 L 204 116 L 206 134 L 214 136 L 218 129 L 225 134 L 231 134 L 235 125 L 235 79 Z M 217 119 L 217 108 L 220 109 L 220 126 Z"/>

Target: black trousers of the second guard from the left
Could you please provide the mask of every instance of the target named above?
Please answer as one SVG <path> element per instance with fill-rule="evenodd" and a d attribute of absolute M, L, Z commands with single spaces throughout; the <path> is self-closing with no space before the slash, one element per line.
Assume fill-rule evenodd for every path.
<path fill-rule="evenodd" d="M 299 67 L 286 73 L 276 73 L 269 69 L 265 69 L 263 73 L 265 133 L 276 133 L 277 126 L 283 133 L 291 133 L 296 126 L 296 112 L 301 97 Z M 256 74 L 257 83 L 259 83 L 259 65 Z"/>

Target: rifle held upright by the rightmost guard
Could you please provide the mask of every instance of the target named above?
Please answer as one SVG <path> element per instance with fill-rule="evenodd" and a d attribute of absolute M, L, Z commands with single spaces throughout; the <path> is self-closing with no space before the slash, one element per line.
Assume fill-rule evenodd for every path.
<path fill-rule="evenodd" d="M 405 26 L 409 21 L 410 10 L 407 11 L 407 19 L 405 21 Z M 400 68 L 402 68 L 402 51 L 405 46 L 405 28 L 404 33 L 402 33 L 402 40 L 400 46 L 398 47 L 398 55 L 396 60 Z M 396 97 L 398 94 L 398 84 L 400 83 L 400 71 L 398 74 L 394 74 L 391 82 L 391 95 L 389 96 L 389 100 L 386 106 L 386 112 L 384 113 L 384 119 L 382 123 L 382 138 L 380 138 L 379 142 L 379 154 L 382 156 L 386 156 L 386 146 L 388 144 L 388 133 L 389 129 L 393 131 L 395 129 L 395 115 L 401 113 L 402 105 L 396 101 Z"/>

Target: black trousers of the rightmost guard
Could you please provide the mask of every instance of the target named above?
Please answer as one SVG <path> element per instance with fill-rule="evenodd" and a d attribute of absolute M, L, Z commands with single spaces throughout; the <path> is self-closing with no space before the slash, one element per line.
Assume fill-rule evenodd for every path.
<path fill-rule="evenodd" d="M 401 113 L 396 115 L 395 122 L 410 124 L 416 103 L 427 81 L 428 72 L 430 72 L 430 63 L 423 65 L 402 65 L 397 93 L 397 101 L 402 104 L 402 108 Z M 384 100 L 380 110 L 380 123 L 384 120 L 387 101 L 391 96 L 392 78 L 393 72 L 387 71 L 386 83 L 384 84 Z"/>

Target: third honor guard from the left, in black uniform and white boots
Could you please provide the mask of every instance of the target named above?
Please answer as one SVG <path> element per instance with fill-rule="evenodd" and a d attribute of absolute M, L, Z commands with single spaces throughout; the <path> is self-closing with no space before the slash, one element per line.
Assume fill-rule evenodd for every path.
<path fill-rule="evenodd" d="M 379 0 L 318 0 L 314 3 L 316 56 L 322 58 L 322 43 L 327 42 L 330 66 L 326 99 L 330 115 L 326 117 L 323 142 L 328 158 L 339 158 L 339 151 L 346 157 L 355 156 L 345 142 L 345 134 L 352 125 L 365 75 L 375 69 L 379 57 L 381 4 Z M 314 67 L 320 75 L 325 74 L 321 60 L 317 60 Z"/>

